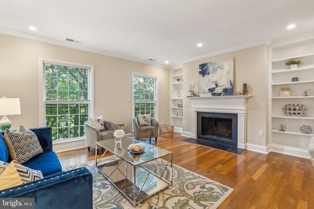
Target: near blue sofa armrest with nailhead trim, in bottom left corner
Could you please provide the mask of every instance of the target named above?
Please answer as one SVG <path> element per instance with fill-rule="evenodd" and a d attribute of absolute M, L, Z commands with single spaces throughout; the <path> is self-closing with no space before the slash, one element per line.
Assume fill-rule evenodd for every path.
<path fill-rule="evenodd" d="M 35 209 L 92 209 L 93 176 L 77 168 L 0 191 L 0 198 L 34 198 Z"/>

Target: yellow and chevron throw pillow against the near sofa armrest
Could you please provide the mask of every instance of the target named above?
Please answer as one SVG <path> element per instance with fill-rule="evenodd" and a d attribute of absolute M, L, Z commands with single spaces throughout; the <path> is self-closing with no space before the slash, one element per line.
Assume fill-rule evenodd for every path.
<path fill-rule="evenodd" d="M 28 182 L 42 179 L 43 174 L 40 170 L 33 170 L 21 165 L 17 161 L 11 161 L 10 164 L 0 174 L 0 190 L 18 186 Z"/>

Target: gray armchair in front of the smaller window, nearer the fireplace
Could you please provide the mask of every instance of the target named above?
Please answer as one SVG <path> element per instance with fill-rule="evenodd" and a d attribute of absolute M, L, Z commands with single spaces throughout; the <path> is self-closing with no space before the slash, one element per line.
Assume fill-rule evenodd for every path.
<path fill-rule="evenodd" d="M 133 118 L 133 124 L 135 139 L 149 138 L 149 142 L 151 142 L 151 138 L 155 138 L 155 142 L 157 142 L 159 123 L 155 118 L 151 118 L 151 126 L 139 126 L 137 117 Z"/>

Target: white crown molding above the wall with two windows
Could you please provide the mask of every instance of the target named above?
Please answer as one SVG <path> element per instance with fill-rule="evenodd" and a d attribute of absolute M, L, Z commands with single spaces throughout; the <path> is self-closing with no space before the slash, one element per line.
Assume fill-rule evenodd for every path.
<path fill-rule="evenodd" d="M 8 29 L 5 29 L 5 28 L 0 28 L 0 33 L 6 34 L 6 35 L 11 35 L 11 36 L 16 36 L 16 37 L 20 37 L 20 38 L 30 39 L 30 40 L 33 40 L 33 41 L 44 42 L 44 43 L 48 43 L 48 44 L 52 44 L 52 45 L 64 46 L 64 47 L 74 48 L 74 49 L 78 49 L 78 50 L 82 50 L 82 51 L 88 51 L 88 52 L 101 54 L 101 55 L 105 55 L 105 56 L 109 56 L 109 57 L 114 57 L 114 58 L 119 58 L 119 59 L 123 59 L 123 60 L 132 61 L 132 62 L 152 65 L 152 66 L 156 66 L 156 67 L 160 67 L 160 68 L 165 68 L 165 69 L 170 69 L 171 68 L 170 66 L 161 65 L 161 64 L 158 64 L 158 63 L 150 62 L 150 61 L 134 59 L 134 58 L 127 57 L 127 56 L 120 56 L 120 55 L 117 55 L 117 54 L 112 54 L 112 53 L 109 53 L 109 52 L 106 52 L 106 51 L 97 50 L 97 49 L 86 47 L 86 46 L 79 46 L 78 43 L 67 43 L 67 42 L 58 41 L 58 40 L 54 40 L 54 39 L 49 39 L 49 38 L 45 38 L 45 37 L 41 37 L 41 36 L 35 36 L 35 35 L 27 34 L 27 33 L 22 33 L 22 32 L 18 32 L 18 31 L 8 30 Z"/>

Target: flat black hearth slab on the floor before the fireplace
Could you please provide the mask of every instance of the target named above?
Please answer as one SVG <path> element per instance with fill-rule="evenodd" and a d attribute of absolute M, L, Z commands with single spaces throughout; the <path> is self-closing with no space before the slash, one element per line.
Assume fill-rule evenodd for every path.
<path fill-rule="evenodd" d="M 215 149 L 220 149 L 223 151 L 232 152 L 235 154 L 241 154 L 245 150 L 245 149 L 238 148 L 236 146 L 232 146 L 232 145 L 228 145 L 228 144 L 222 144 L 222 143 L 218 143 L 218 142 L 212 142 L 212 141 L 204 140 L 204 139 L 187 138 L 187 139 L 183 139 L 183 141 L 204 145 L 204 146 L 212 147 Z"/>

